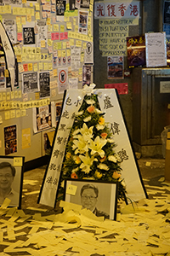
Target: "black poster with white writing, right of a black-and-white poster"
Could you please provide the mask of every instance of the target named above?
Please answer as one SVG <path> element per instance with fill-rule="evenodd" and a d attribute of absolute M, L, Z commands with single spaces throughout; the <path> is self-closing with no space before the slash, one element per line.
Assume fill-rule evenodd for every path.
<path fill-rule="evenodd" d="M 50 96 L 50 79 L 49 72 L 39 73 L 40 98 Z"/>

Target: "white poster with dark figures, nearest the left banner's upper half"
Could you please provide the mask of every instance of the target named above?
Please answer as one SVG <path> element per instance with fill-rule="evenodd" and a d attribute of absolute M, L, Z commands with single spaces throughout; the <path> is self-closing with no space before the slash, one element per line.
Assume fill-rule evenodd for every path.
<path fill-rule="evenodd" d="M 32 108 L 33 117 L 33 131 L 47 130 L 52 127 L 51 119 L 51 105 L 42 106 L 39 108 Z"/>

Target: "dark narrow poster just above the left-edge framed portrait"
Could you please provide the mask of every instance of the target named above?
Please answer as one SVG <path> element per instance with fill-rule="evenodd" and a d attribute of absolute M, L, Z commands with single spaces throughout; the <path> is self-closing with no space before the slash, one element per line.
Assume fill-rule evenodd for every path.
<path fill-rule="evenodd" d="M 4 148 L 5 155 L 17 152 L 17 127 L 9 125 L 4 127 Z"/>

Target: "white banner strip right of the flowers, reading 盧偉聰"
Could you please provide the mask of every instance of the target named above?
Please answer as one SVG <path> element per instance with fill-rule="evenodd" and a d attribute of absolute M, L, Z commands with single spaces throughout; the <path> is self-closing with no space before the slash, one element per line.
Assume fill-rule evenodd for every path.
<path fill-rule="evenodd" d="M 105 122 L 108 122 L 116 143 L 116 154 L 122 160 L 122 178 L 126 183 L 127 198 L 131 201 L 139 201 L 146 197 L 144 185 L 140 179 L 139 169 L 134 158 L 133 148 L 124 123 L 122 110 L 116 96 L 115 89 L 97 90 L 99 106 L 105 113 Z"/>

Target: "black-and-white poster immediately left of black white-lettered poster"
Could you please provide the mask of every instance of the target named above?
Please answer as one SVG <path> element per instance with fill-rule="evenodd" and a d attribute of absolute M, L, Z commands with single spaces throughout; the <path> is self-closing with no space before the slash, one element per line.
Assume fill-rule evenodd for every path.
<path fill-rule="evenodd" d="M 35 92 L 39 90 L 37 81 L 37 72 L 23 73 L 22 74 L 22 92 Z"/>

